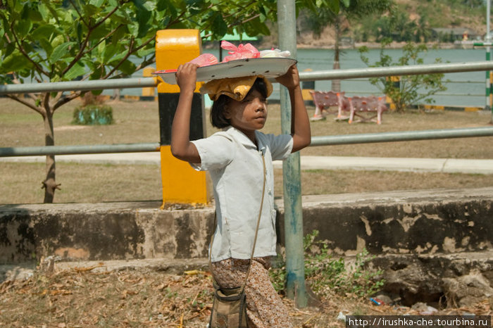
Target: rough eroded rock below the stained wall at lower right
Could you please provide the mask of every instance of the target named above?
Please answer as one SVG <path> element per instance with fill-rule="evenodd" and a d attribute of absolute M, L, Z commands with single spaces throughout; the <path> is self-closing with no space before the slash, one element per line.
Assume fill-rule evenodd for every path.
<path fill-rule="evenodd" d="M 493 297 L 493 251 L 386 254 L 372 260 L 383 270 L 381 293 L 401 305 L 418 302 L 468 306 Z M 394 296 L 394 297 L 392 297 Z M 395 297 L 399 296 L 399 297 Z M 380 296 L 375 296 L 380 298 Z"/>

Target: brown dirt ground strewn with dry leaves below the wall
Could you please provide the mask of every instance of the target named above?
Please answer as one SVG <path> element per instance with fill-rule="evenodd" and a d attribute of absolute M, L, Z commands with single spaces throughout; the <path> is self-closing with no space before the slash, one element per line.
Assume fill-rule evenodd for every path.
<path fill-rule="evenodd" d="M 169 273 L 156 267 L 108 270 L 105 263 L 36 270 L 0 284 L 1 327 L 206 327 L 212 301 L 206 271 Z M 421 307 L 375 305 L 332 294 L 298 309 L 283 297 L 294 327 L 345 327 L 344 315 L 423 315 Z M 435 315 L 492 315 L 491 300 Z"/>

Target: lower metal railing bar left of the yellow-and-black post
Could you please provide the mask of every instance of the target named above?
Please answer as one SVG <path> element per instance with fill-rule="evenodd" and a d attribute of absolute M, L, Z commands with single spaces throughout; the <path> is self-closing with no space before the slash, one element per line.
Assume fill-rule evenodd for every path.
<path fill-rule="evenodd" d="M 0 148 L 0 157 L 77 155 L 87 153 L 135 153 L 159 151 L 159 143 L 148 144 L 99 144 L 77 146 L 34 146 Z"/>

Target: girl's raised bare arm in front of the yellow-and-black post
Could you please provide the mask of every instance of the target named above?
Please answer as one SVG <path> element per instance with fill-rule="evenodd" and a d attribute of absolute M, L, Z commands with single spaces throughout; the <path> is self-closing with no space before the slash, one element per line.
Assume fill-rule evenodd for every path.
<path fill-rule="evenodd" d="M 190 112 L 196 83 L 196 69 L 199 65 L 186 63 L 180 65 L 176 72 L 180 87 L 180 98 L 171 127 L 171 153 L 180 160 L 200 163 L 199 152 L 190 142 Z"/>

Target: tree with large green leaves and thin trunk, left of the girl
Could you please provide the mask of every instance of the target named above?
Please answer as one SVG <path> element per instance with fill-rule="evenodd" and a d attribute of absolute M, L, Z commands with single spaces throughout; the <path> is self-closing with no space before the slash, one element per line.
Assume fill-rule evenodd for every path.
<path fill-rule="evenodd" d="M 315 6 L 314 1 L 302 4 Z M 276 19 L 276 6 L 272 0 L 0 0 L 0 83 L 131 75 L 154 63 L 156 30 L 196 28 L 211 39 L 233 29 L 269 34 L 266 21 Z M 137 65 L 131 56 L 139 58 Z M 80 94 L 8 96 L 42 116 L 45 145 L 53 146 L 55 111 Z M 55 156 L 46 156 L 45 203 L 54 201 L 59 186 Z"/>

